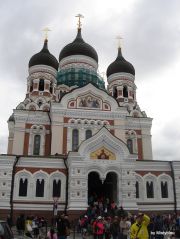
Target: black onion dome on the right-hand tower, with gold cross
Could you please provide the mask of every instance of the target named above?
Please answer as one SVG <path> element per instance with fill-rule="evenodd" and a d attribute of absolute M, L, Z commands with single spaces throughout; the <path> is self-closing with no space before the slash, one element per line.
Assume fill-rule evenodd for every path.
<path fill-rule="evenodd" d="M 114 73 L 120 73 L 120 72 L 125 72 L 125 73 L 130 73 L 132 75 L 135 75 L 135 69 L 134 66 L 126 61 L 124 57 L 122 56 L 121 53 L 121 48 L 118 48 L 118 56 L 114 62 L 112 62 L 108 68 L 107 68 L 107 77 Z"/>

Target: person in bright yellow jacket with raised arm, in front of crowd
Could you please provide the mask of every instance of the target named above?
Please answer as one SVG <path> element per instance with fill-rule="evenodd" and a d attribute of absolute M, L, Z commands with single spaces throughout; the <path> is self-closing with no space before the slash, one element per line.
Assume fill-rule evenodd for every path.
<path fill-rule="evenodd" d="M 136 222 L 131 226 L 130 239 L 148 239 L 149 233 L 147 226 L 150 218 L 145 214 L 138 214 Z"/>

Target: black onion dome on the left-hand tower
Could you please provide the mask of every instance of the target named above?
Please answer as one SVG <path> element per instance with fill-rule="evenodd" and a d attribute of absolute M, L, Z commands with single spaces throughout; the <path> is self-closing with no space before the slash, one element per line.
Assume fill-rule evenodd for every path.
<path fill-rule="evenodd" d="M 35 65 L 47 65 L 58 70 L 58 61 L 48 50 L 48 40 L 45 39 L 42 50 L 31 57 L 29 67 Z"/>

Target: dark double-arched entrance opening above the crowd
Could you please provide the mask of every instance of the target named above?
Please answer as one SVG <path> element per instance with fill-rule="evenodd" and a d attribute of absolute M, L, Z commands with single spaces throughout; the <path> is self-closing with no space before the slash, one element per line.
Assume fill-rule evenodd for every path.
<path fill-rule="evenodd" d="M 88 203 L 98 198 L 109 198 L 112 202 L 117 203 L 117 174 L 109 172 L 104 180 L 100 179 L 97 172 L 90 172 L 88 174 Z"/>

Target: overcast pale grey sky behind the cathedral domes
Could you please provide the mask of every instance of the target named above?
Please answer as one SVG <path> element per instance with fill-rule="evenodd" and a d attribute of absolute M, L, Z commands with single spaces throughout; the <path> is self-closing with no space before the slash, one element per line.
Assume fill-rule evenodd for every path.
<path fill-rule="evenodd" d="M 180 160 L 179 0 L 6 0 L 0 3 L 0 153 L 6 153 L 12 110 L 24 100 L 30 57 L 41 50 L 44 27 L 49 50 L 59 57 L 76 35 L 75 15 L 84 15 L 82 35 L 106 72 L 122 52 L 136 70 L 137 100 L 153 118 L 155 160 Z"/>

